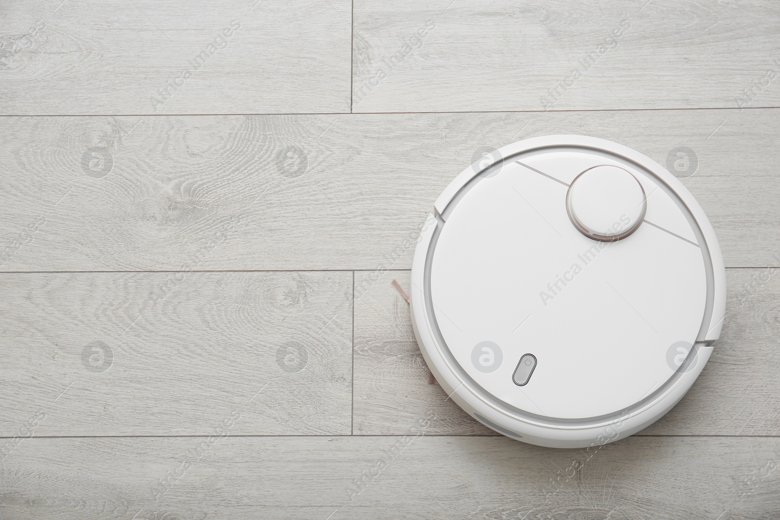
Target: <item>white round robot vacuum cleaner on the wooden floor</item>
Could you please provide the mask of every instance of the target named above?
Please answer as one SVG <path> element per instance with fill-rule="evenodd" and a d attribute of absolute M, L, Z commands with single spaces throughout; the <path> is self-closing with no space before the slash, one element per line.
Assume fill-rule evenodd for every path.
<path fill-rule="evenodd" d="M 447 394 L 550 447 L 605 444 L 683 398 L 725 313 L 707 216 L 649 157 L 544 136 L 496 150 L 441 193 L 417 243 L 412 323 Z"/>

